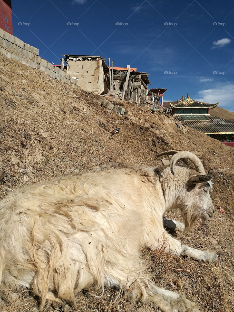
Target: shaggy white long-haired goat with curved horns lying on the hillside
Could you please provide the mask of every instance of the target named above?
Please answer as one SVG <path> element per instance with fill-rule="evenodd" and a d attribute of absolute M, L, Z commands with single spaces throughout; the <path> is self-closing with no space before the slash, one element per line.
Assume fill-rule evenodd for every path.
<path fill-rule="evenodd" d="M 175 165 L 188 158 L 196 170 Z M 76 306 L 75 294 L 96 285 L 131 291 L 130 300 L 163 311 L 198 311 L 144 273 L 140 249 L 158 249 L 212 262 L 213 251 L 190 248 L 163 228 L 163 213 L 181 207 L 186 228 L 213 217 L 206 174 L 196 155 L 174 154 L 169 167 L 123 163 L 74 173 L 16 190 L 0 204 L 0 295 L 11 302 L 21 287 L 46 300 Z"/>

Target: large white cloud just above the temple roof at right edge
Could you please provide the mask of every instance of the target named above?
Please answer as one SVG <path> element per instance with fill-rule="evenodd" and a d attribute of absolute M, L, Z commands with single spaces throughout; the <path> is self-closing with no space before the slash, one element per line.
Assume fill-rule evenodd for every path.
<path fill-rule="evenodd" d="M 224 84 L 218 85 L 217 88 L 202 90 L 196 97 L 196 100 L 203 103 L 215 104 L 219 102 L 219 106 L 227 109 L 234 110 L 234 85 Z"/>

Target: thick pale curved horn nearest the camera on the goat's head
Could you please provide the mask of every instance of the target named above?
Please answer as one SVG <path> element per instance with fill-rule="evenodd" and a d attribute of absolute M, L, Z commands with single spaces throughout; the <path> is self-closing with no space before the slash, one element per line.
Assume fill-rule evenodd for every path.
<path fill-rule="evenodd" d="M 195 154 L 191 152 L 187 152 L 187 151 L 181 151 L 181 152 L 174 154 L 170 160 L 170 170 L 173 175 L 175 175 L 175 172 L 174 172 L 175 164 L 181 158 L 186 158 L 190 160 L 194 164 L 195 168 L 197 168 L 197 171 L 200 174 L 206 174 L 201 160 Z"/>

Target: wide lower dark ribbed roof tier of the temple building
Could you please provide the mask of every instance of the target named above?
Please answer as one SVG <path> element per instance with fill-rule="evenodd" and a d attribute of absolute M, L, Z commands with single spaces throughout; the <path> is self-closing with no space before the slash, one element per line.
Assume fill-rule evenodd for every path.
<path fill-rule="evenodd" d="M 211 115 L 201 114 L 201 116 L 206 116 L 207 119 L 197 120 L 198 115 L 191 114 L 191 119 L 187 120 L 187 118 L 183 119 L 183 114 L 177 116 L 173 115 L 173 117 L 177 120 L 183 122 L 187 126 L 197 130 L 204 132 L 206 134 L 234 134 L 234 122 L 222 118 L 218 118 Z M 185 115 L 188 116 L 188 115 Z M 194 119 L 193 119 L 194 116 Z M 196 116 L 196 117 L 195 117 Z"/>

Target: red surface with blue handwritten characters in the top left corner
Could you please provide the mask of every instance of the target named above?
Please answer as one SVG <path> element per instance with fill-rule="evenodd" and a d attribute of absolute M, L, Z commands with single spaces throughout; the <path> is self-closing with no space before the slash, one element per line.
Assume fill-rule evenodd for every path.
<path fill-rule="evenodd" d="M 0 0 L 0 28 L 13 35 L 11 1 Z"/>

